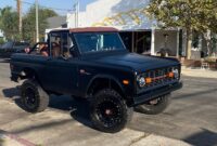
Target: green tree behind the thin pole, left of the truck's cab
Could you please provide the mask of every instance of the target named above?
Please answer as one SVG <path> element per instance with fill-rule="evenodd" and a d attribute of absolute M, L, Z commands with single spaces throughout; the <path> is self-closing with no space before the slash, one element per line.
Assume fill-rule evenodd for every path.
<path fill-rule="evenodd" d="M 48 28 L 47 18 L 58 14 L 49 9 L 39 8 L 39 39 L 44 37 L 44 30 Z M 27 14 L 23 17 L 23 38 L 30 42 L 36 42 L 36 9 L 33 5 Z"/>

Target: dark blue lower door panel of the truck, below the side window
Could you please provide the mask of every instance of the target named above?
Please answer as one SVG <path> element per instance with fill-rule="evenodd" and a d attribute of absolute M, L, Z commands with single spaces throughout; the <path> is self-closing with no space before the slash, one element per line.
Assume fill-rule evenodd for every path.
<path fill-rule="evenodd" d="M 46 63 L 44 87 L 56 93 L 73 94 L 77 91 L 76 59 L 50 58 Z"/>

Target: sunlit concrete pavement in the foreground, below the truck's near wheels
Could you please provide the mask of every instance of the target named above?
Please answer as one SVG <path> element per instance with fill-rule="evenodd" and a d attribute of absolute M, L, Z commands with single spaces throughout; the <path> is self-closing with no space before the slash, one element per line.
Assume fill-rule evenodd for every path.
<path fill-rule="evenodd" d="M 0 107 L 0 146 L 189 146 L 178 140 L 131 129 L 102 133 L 79 123 L 67 112 L 47 109 L 30 115 L 2 98 Z"/>

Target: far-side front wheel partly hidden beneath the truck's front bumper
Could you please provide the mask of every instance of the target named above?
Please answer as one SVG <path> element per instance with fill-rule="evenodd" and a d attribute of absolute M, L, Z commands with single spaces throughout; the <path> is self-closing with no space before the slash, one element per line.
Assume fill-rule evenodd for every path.
<path fill-rule="evenodd" d="M 149 101 L 143 105 L 137 106 L 136 111 L 146 115 L 157 115 L 163 112 L 170 103 L 170 94 L 159 96 L 155 99 Z"/>

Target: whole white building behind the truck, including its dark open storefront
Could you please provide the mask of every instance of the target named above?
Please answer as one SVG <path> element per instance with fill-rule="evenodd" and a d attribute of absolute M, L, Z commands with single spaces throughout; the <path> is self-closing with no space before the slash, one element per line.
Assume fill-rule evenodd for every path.
<path fill-rule="evenodd" d="M 67 14 L 67 27 L 116 27 L 122 31 L 120 36 L 131 52 L 155 55 L 159 50 L 167 49 L 171 56 L 184 54 L 179 29 L 158 29 L 156 21 L 148 18 L 144 8 L 149 2 L 149 0 L 97 0 L 88 4 L 86 11 L 79 12 L 78 16 L 76 13 Z"/>

